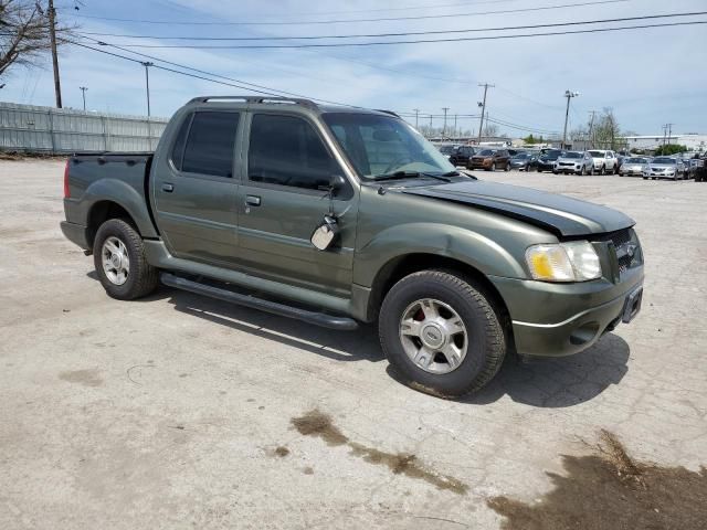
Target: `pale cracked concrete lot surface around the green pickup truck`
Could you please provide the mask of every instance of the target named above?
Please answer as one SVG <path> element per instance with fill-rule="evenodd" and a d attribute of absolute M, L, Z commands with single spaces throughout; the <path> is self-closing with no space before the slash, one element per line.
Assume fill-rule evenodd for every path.
<path fill-rule="evenodd" d="M 370 328 L 108 298 L 59 230 L 62 171 L 0 162 L 2 529 L 493 529 L 488 499 L 541 498 L 600 430 L 642 460 L 706 463 L 707 184 L 481 173 L 635 219 L 645 298 L 587 352 L 509 360 L 451 402 L 398 383 Z M 308 436 L 314 410 L 331 423 Z"/>

